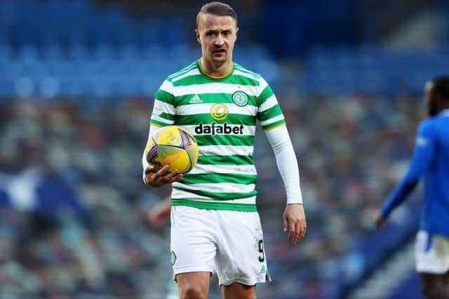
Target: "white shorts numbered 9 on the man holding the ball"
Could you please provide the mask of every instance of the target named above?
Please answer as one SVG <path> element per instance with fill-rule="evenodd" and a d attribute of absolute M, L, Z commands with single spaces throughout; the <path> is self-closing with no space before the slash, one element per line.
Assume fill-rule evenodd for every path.
<path fill-rule="evenodd" d="M 269 279 L 257 212 L 171 207 L 173 274 L 216 272 L 218 284 Z"/>

